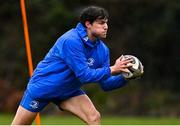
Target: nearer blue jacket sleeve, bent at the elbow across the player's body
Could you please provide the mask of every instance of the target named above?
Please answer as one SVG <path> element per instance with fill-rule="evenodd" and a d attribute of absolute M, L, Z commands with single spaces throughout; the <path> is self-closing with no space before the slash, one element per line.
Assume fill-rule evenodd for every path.
<path fill-rule="evenodd" d="M 111 75 L 107 66 L 98 69 L 89 68 L 83 46 L 79 41 L 65 40 L 62 51 L 63 59 L 81 83 L 99 82 Z"/>

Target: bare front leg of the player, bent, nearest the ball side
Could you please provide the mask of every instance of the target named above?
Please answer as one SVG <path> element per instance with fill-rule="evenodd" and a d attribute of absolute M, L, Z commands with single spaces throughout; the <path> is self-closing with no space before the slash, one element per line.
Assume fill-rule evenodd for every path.
<path fill-rule="evenodd" d="M 100 114 L 86 94 L 61 102 L 60 107 L 83 120 L 86 124 L 100 124 Z"/>

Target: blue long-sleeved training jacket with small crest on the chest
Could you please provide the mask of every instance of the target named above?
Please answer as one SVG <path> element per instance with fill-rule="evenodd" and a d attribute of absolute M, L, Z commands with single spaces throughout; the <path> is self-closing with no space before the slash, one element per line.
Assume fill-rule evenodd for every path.
<path fill-rule="evenodd" d="M 109 49 L 102 40 L 91 42 L 78 23 L 63 34 L 37 65 L 27 91 L 34 98 L 66 97 L 83 84 L 97 82 L 109 91 L 124 86 L 121 76 L 111 76 Z"/>

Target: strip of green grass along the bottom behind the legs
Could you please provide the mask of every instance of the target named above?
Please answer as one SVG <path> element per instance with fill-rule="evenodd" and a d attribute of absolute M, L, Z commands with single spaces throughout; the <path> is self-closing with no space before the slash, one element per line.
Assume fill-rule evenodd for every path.
<path fill-rule="evenodd" d="M 0 125 L 9 125 L 13 115 L 0 114 Z M 43 116 L 42 125 L 83 125 L 84 123 L 74 116 Z M 180 125 L 180 118 L 155 117 L 102 117 L 104 125 Z"/>

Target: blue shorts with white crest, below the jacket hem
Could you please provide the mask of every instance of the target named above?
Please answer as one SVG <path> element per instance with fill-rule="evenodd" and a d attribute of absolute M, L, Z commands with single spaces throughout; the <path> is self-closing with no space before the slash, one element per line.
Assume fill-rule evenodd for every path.
<path fill-rule="evenodd" d="M 73 94 L 71 94 L 66 99 L 69 99 L 74 96 L 82 95 L 82 94 L 85 94 L 85 92 L 83 90 L 79 89 L 76 92 L 74 92 Z M 58 97 L 53 98 L 53 99 L 46 99 L 46 100 L 35 99 L 35 98 L 32 98 L 27 91 L 25 91 L 20 105 L 23 108 L 25 108 L 31 112 L 40 112 L 46 105 L 48 105 L 50 102 L 52 102 L 52 103 L 56 104 L 60 110 L 63 110 L 62 108 L 60 108 L 59 105 L 62 101 L 66 100 L 66 99 L 62 100 L 62 99 L 59 99 Z"/>

